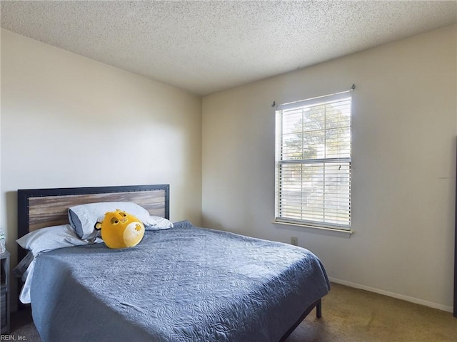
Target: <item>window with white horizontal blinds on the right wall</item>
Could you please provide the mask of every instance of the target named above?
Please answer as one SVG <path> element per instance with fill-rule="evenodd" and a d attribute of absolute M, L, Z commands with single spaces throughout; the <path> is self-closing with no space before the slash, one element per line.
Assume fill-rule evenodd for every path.
<path fill-rule="evenodd" d="M 350 230 L 349 91 L 276 108 L 275 221 Z"/>

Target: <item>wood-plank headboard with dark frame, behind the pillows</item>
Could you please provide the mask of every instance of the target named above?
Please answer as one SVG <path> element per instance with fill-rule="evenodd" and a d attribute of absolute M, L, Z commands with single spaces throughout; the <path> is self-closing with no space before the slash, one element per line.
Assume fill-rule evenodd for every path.
<path fill-rule="evenodd" d="M 43 227 L 69 223 L 69 207 L 86 203 L 134 202 L 151 215 L 169 219 L 169 189 L 169 185 L 127 185 L 18 190 L 18 237 Z M 24 256 L 25 251 L 19 247 L 18 260 Z"/>

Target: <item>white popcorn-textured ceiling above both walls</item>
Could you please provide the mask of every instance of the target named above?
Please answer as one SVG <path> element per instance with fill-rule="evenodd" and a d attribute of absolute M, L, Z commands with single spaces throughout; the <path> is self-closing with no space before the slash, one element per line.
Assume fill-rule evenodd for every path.
<path fill-rule="evenodd" d="M 457 22 L 457 1 L 1 1 L 1 27 L 216 93 Z"/>

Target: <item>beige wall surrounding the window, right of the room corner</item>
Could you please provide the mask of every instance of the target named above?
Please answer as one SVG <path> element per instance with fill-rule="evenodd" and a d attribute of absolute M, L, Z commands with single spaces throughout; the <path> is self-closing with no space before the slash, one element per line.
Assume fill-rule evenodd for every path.
<path fill-rule="evenodd" d="M 451 311 L 456 26 L 203 99 L 203 222 L 311 249 L 343 284 Z M 351 238 L 271 223 L 276 103 L 353 92 Z"/>

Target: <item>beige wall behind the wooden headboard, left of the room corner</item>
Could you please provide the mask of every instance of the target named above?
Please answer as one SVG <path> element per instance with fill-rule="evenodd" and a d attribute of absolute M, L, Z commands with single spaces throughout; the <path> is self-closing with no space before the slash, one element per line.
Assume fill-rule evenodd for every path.
<path fill-rule="evenodd" d="M 1 30 L 1 216 L 16 261 L 16 190 L 170 184 L 201 223 L 201 98 Z"/>

